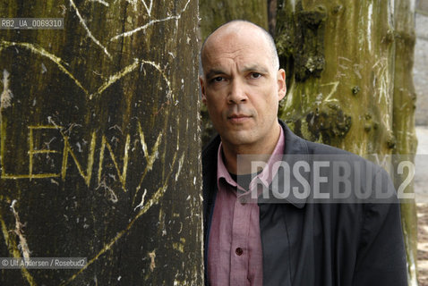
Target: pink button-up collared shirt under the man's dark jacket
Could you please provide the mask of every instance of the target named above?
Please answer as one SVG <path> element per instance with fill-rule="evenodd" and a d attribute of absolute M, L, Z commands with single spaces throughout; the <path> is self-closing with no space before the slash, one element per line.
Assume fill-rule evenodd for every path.
<path fill-rule="evenodd" d="M 259 206 L 246 203 L 250 191 L 242 189 L 232 179 L 223 162 L 222 147 L 218 147 L 218 194 L 210 224 L 208 277 L 211 286 L 258 286 L 263 283 Z M 272 165 L 284 153 L 284 131 L 278 139 L 270 160 L 257 177 L 268 184 L 272 180 Z M 253 180 L 255 181 L 255 179 Z M 253 185 L 252 181 L 252 185 Z"/>

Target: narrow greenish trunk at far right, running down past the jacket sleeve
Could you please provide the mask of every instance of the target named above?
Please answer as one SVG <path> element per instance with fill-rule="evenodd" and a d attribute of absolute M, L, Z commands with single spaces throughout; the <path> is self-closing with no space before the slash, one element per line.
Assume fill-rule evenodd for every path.
<path fill-rule="evenodd" d="M 413 61 L 415 50 L 415 0 L 395 0 L 396 56 L 394 74 L 393 130 L 397 147 L 393 153 L 406 155 L 415 162 L 417 139 L 415 135 L 415 86 L 413 84 Z M 394 162 L 398 165 L 400 160 Z M 408 172 L 397 176 L 396 184 L 406 180 Z M 405 189 L 414 193 L 413 182 Z M 408 284 L 417 285 L 417 216 L 415 200 L 401 204 L 401 222 L 406 237 Z"/>

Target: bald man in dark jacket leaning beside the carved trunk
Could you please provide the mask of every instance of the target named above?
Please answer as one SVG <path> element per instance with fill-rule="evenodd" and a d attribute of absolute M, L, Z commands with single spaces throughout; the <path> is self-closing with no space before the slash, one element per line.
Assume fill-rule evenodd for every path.
<path fill-rule="evenodd" d="M 257 188 L 271 189 L 278 168 L 269 172 L 276 170 L 278 158 L 349 156 L 300 139 L 278 121 L 286 75 L 270 34 L 248 21 L 228 22 L 204 42 L 201 64 L 202 102 L 218 131 L 202 154 L 206 284 L 407 285 L 397 200 L 309 204 L 308 198 L 288 196 L 261 201 Z M 250 159 L 238 162 L 246 155 L 264 155 L 262 170 L 253 172 Z M 378 169 L 386 182 L 381 188 L 393 191 Z M 254 189 L 255 203 L 249 199 Z"/>

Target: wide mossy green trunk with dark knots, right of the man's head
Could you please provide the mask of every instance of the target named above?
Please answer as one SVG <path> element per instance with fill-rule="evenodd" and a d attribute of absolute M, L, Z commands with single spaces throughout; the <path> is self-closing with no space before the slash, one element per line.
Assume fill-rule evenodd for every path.
<path fill-rule="evenodd" d="M 390 15 L 386 3 L 278 1 L 276 41 L 288 88 L 280 118 L 300 121 L 307 139 L 319 138 L 319 131 L 309 127 L 321 126 L 313 121 L 322 120 L 322 141 L 357 154 L 387 154 L 392 44 L 382 38 L 392 29 Z M 331 105 L 340 124 L 325 123 L 326 116 L 308 116 L 329 111 Z M 377 128 L 368 127 L 367 113 Z M 330 116 L 332 122 L 336 119 Z"/>

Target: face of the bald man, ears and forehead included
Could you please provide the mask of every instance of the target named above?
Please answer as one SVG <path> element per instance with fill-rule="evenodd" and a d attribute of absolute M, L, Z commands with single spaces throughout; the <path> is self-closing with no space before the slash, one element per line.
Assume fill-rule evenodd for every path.
<path fill-rule="evenodd" d="M 274 69 L 261 31 L 217 32 L 202 52 L 202 102 L 224 144 L 263 146 L 278 124 L 278 101 L 286 94 L 285 71 Z"/>

